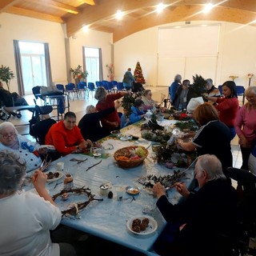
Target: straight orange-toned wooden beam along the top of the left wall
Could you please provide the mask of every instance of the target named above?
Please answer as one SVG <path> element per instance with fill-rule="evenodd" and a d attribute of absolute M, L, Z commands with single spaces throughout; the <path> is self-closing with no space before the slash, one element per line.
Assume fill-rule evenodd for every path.
<path fill-rule="evenodd" d="M 17 15 L 21 15 L 21 16 L 30 17 L 30 18 L 39 18 L 39 19 L 43 19 L 46 21 L 50 21 L 50 22 L 64 23 L 62 18 L 60 18 L 58 16 L 42 14 L 42 13 L 38 13 L 37 11 L 26 10 L 26 9 L 14 7 L 14 6 L 10 7 L 10 9 L 8 9 L 7 12 L 10 14 L 17 14 Z"/>

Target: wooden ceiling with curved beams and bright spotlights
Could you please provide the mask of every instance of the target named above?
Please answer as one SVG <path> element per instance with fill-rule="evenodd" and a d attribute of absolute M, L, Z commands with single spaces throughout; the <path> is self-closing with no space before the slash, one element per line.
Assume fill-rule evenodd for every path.
<path fill-rule="evenodd" d="M 159 2 L 166 5 L 157 13 Z M 202 10 L 211 2 L 214 9 Z M 117 10 L 125 14 L 116 19 Z M 217 20 L 256 26 L 256 0 L 1 0 L 0 12 L 66 23 L 67 36 L 82 26 L 113 33 L 113 41 L 170 22 Z"/>

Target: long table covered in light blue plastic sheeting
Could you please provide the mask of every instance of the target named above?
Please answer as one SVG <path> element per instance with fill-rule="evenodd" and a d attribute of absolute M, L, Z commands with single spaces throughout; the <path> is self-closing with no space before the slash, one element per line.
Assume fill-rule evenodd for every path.
<path fill-rule="evenodd" d="M 138 136 L 140 134 L 140 129 L 138 126 L 129 126 L 122 130 L 122 133 Z M 88 187 L 92 194 L 95 194 L 95 198 L 103 198 L 103 201 L 100 202 L 90 202 L 90 204 L 79 214 L 79 218 L 62 218 L 62 224 L 82 230 L 89 234 L 94 234 L 100 238 L 105 238 L 111 242 L 116 242 L 122 246 L 138 250 L 144 254 L 154 254 L 152 246 L 158 238 L 158 235 L 161 234 L 166 226 L 162 214 L 160 214 L 156 207 L 151 215 L 158 222 L 158 229 L 153 234 L 146 236 L 132 234 L 126 227 L 126 222 L 130 218 L 144 215 L 142 213 L 144 207 L 155 205 L 156 202 L 156 198 L 153 197 L 152 192 L 144 189 L 138 182 L 138 179 L 145 178 L 150 174 L 155 174 L 157 176 L 174 174 L 174 170 L 178 170 L 178 168 L 170 170 L 165 166 L 155 163 L 151 144 L 152 142 L 142 138 L 139 138 L 137 141 L 121 141 L 118 138 L 108 137 L 102 140 L 102 146 L 105 148 L 105 150 L 102 151 L 102 158 L 94 158 L 85 154 L 69 154 L 64 158 L 59 158 L 57 161 L 51 163 L 49 170 L 54 171 L 57 169 L 58 162 L 64 162 L 64 173 L 72 174 L 75 187 Z M 131 169 L 122 169 L 114 161 L 113 154 L 115 150 L 131 145 L 145 146 L 147 150 L 149 150 L 149 155 L 142 165 Z M 110 150 L 109 148 L 112 146 L 114 146 L 114 148 Z M 106 154 L 109 155 L 107 158 Z M 87 160 L 78 163 L 70 161 L 72 158 L 79 160 L 85 160 L 87 158 Z M 100 163 L 97 166 L 86 170 L 89 166 L 93 166 L 98 162 Z M 193 168 L 186 170 L 186 179 L 183 181 L 186 182 L 187 186 L 190 186 L 192 179 Z M 58 184 L 57 186 L 56 183 Z M 102 184 L 110 186 L 109 190 L 113 192 L 113 198 L 107 198 L 106 196 L 101 195 L 100 186 Z M 140 193 L 134 197 L 130 196 L 129 194 L 126 194 L 126 186 L 138 186 L 140 188 Z M 120 190 L 120 187 L 124 190 L 124 194 L 123 199 L 118 201 L 117 190 Z M 48 184 L 47 189 L 50 190 L 52 196 L 57 194 L 63 189 L 63 178 Z M 169 190 L 167 195 L 172 203 L 177 203 L 181 198 L 181 195 L 174 189 Z M 61 210 L 64 210 L 70 202 L 82 202 L 82 200 L 86 201 L 86 197 L 82 199 L 82 196 L 79 195 L 77 198 L 74 196 L 67 201 L 62 201 L 61 198 L 58 198 L 58 201 L 56 202 Z"/>

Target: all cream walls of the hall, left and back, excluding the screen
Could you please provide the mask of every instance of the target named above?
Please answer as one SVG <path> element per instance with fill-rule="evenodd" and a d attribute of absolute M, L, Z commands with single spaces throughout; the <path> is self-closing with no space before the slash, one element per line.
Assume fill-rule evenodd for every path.
<path fill-rule="evenodd" d="M 204 22 L 206 23 L 206 22 Z M 216 22 L 207 22 L 208 24 Z M 220 23 L 220 22 L 218 22 Z M 54 82 L 66 82 L 66 52 L 65 26 L 56 22 L 46 22 L 35 18 L 26 18 L 14 14 L 0 14 L 0 65 L 10 66 L 16 74 L 14 62 L 13 40 L 31 42 L 48 42 L 50 45 L 50 62 Z M 191 26 L 202 25 L 203 22 L 191 22 Z M 184 22 L 166 24 L 165 26 L 184 26 Z M 190 25 L 186 25 L 190 26 Z M 123 74 L 128 67 L 135 69 L 139 61 L 147 85 L 170 86 L 170 83 L 159 85 L 158 81 L 158 27 L 142 30 L 131 34 L 114 43 L 114 74 L 115 79 L 122 81 Z M 74 38 L 70 38 L 70 66 L 82 65 L 82 46 L 102 48 L 103 78 L 107 79 L 106 64 L 113 62 L 111 47 L 112 34 L 89 30 L 87 33 L 79 31 Z M 188 42 L 193 38 L 188 38 Z M 221 22 L 218 46 L 218 65 L 216 68 L 215 84 L 229 80 L 230 75 L 238 76 L 237 85 L 247 86 L 247 74 L 256 75 L 256 28 L 242 26 L 230 22 Z M 170 77 L 172 82 L 176 70 L 168 65 L 161 66 L 162 74 Z M 198 74 L 204 66 L 197 67 Z M 183 73 L 183 70 L 180 72 Z M 207 73 L 208 74 L 208 73 Z M 189 78 L 192 81 L 192 77 Z M 168 79 L 167 79 L 168 81 Z M 251 85 L 256 85 L 255 76 Z M 16 78 L 10 82 L 10 89 L 18 91 Z"/>

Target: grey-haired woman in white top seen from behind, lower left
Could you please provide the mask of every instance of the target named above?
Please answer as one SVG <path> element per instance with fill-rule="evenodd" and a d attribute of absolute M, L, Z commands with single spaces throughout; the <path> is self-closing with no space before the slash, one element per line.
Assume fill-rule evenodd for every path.
<path fill-rule="evenodd" d="M 12 152 L 0 152 L 0 255 L 76 255 L 73 246 L 50 240 L 62 213 L 46 190 L 47 175 L 36 170 L 32 176 L 38 194 L 20 190 L 26 176 L 21 161 Z"/>

